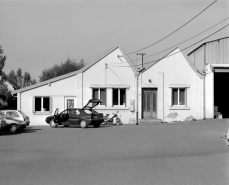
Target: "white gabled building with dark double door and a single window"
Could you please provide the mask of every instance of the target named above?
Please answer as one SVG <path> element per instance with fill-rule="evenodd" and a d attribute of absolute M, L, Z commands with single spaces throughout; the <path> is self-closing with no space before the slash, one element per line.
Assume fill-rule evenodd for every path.
<path fill-rule="evenodd" d="M 148 66 L 139 84 L 140 119 L 203 119 L 203 75 L 178 48 Z"/>

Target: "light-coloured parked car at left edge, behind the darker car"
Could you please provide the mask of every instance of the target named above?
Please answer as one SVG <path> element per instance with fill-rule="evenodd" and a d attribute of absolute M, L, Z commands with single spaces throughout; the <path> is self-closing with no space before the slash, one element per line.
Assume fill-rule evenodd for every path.
<path fill-rule="evenodd" d="M 1 110 L 0 112 L 4 113 L 7 117 L 25 121 L 27 126 L 30 124 L 29 116 L 27 116 L 21 110 Z"/>

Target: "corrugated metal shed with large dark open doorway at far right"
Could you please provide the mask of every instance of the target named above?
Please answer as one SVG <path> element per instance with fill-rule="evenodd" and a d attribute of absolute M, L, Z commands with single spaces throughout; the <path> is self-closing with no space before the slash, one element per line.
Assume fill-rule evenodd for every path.
<path fill-rule="evenodd" d="M 205 117 L 229 118 L 229 37 L 203 43 L 188 56 L 205 76 Z"/>

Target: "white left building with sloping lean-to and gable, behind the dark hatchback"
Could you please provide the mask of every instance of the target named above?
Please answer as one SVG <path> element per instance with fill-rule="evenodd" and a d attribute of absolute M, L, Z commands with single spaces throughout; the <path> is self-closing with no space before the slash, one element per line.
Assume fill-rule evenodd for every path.
<path fill-rule="evenodd" d="M 114 47 L 84 68 L 12 92 L 17 108 L 29 117 L 31 125 L 46 125 L 45 118 L 56 108 L 82 108 L 89 99 L 99 98 L 97 111 L 112 114 L 119 110 L 122 122 L 134 118 L 130 102 L 134 99 L 134 72 L 121 47 Z M 119 66 L 119 67 L 116 67 Z"/>

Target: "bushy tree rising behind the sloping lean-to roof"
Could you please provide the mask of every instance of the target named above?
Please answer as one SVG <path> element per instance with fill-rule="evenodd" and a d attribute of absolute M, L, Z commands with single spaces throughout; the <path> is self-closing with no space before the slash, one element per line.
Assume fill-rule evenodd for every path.
<path fill-rule="evenodd" d="M 53 67 L 44 69 L 39 76 L 40 82 L 45 80 L 49 80 L 73 71 L 77 71 L 85 66 L 84 60 L 80 60 L 80 62 L 76 62 L 75 59 L 70 59 L 69 57 L 67 60 L 60 65 L 55 64 Z"/>

